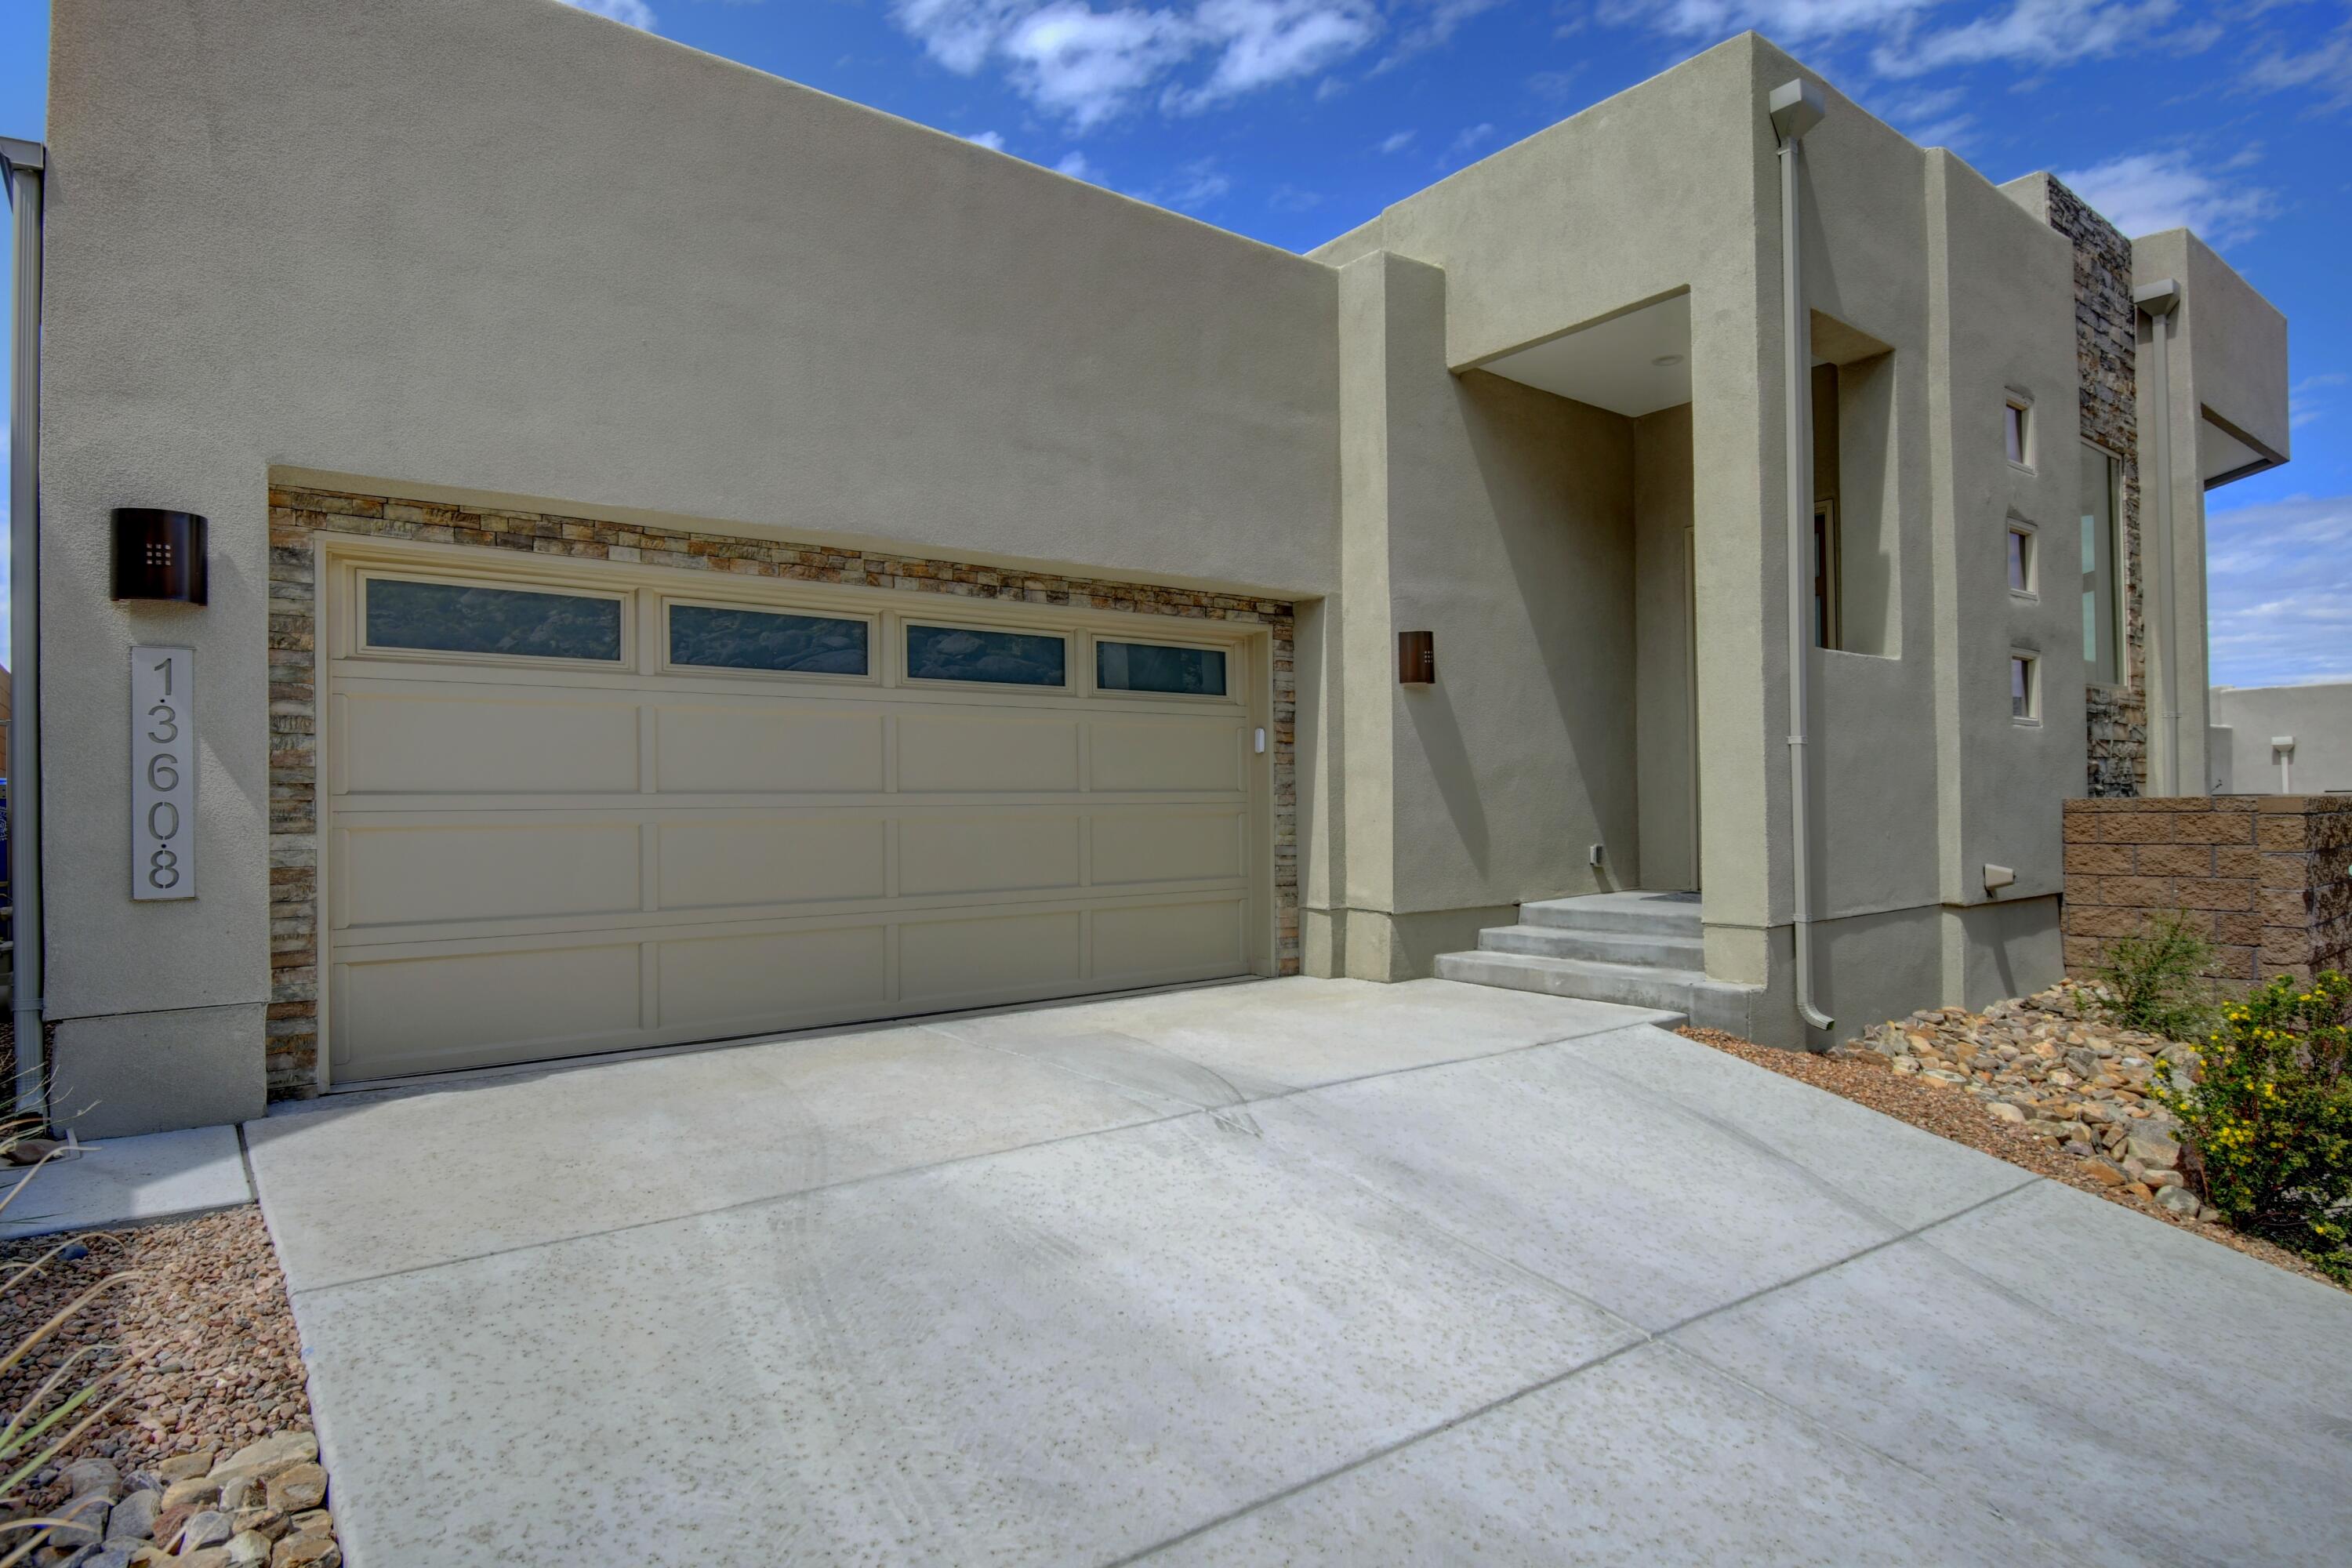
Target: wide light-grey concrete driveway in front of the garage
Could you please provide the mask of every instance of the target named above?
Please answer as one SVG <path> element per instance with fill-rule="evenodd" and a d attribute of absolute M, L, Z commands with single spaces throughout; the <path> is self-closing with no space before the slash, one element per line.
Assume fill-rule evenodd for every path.
<path fill-rule="evenodd" d="M 1653 1018 L 1275 980 L 249 1124 L 348 1561 L 2343 1561 L 2352 1295 Z"/>

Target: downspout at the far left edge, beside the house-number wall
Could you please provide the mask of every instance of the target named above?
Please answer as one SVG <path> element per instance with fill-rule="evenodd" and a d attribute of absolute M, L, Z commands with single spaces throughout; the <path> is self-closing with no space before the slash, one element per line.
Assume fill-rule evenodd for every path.
<path fill-rule="evenodd" d="M 16 289 L 9 315 L 9 757 L 7 835 L 14 907 L 16 1112 L 49 1119 L 40 1034 L 40 197 L 47 155 L 0 136 L 14 207 Z"/>

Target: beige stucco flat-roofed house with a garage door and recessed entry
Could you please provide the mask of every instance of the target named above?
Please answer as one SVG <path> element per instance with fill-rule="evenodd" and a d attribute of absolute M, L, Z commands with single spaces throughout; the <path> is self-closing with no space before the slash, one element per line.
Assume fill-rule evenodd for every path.
<path fill-rule="evenodd" d="M 1312 256 L 550 0 L 61 0 L 52 61 L 85 1131 L 1399 980 L 1611 889 L 1700 893 L 1703 1020 L 1830 1039 L 1792 672 L 1818 1006 L 2023 992 L 2060 797 L 2204 778 L 2201 489 L 2286 454 L 2284 320 L 2213 252 L 1755 35 Z M 207 607 L 111 597 L 127 505 L 212 520 Z M 193 649 L 195 900 L 129 898 L 127 644 Z"/>

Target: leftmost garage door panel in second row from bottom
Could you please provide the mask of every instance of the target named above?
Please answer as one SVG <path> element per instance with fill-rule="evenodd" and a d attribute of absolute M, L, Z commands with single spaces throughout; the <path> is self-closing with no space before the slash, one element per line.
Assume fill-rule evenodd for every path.
<path fill-rule="evenodd" d="M 334 835 L 339 924 L 557 919 L 637 910 L 637 823 L 477 823 Z"/>

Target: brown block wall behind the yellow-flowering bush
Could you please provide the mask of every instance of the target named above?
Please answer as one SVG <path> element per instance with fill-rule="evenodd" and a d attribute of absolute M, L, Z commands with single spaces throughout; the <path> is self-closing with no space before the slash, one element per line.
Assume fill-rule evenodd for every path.
<path fill-rule="evenodd" d="M 2183 910 L 2213 940 L 2206 973 L 2244 990 L 2352 961 L 2352 797 L 2187 795 L 2065 804 L 2065 971 Z"/>

